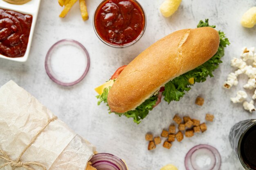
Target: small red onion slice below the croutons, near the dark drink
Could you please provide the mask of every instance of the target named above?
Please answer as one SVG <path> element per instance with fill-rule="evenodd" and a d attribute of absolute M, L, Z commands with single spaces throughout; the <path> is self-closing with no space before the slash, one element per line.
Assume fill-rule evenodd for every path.
<path fill-rule="evenodd" d="M 210 159 L 209 165 L 203 167 L 198 165 L 197 159 L 200 156 L 206 156 Z M 201 157 L 202 158 L 202 157 Z M 205 161 L 205 160 L 204 160 Z M 220 170 L 221 157 L 216 148 L 210 145 L 202 144 L 191 148 L 185 157 L 186 170 Z"/>

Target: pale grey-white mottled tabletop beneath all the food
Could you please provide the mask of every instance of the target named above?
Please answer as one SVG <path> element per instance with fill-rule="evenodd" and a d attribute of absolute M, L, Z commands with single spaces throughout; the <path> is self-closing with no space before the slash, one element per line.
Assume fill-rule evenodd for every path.
<path fill-rule="evenodd" d="M 247 29 L 240 25 L 243 13 L 256 6 L 255 0 L 184 0 L 178 11 L 167 19 L 162 17 L 158 9 L 163 0 L 139 1 L 148 17 L 146 32 L 136 45 L 115 49 L 103 44 L 92 28 L 92 14 L 100 0 L 87 0 L 90 19 L 86 22 L 81 20 L 78 3 L 66 18 L 61 19 L 58 14 L 62 8 L 57 0 L 43 0 L 28 61 L 16 63 L 1 59 L 0 85 L 14 80 L 74 131 L 96 145 L 99 152 L 112 153 L 125 159 L 130 170 L 159 170 L 167 163 L 185 170 L 184 157 L 197 144 L 210 144 L 219 150 L 222 157 L 221 170 L 242 170 L 229 145 L 228 134 L 236 122 L 256 118 L 256 113 L 250 114 L 241 105 L 231 104 L 229 100 L 238 89 L 243 89 L 242 83 L 231 90 L 221 86 L 232 70 L 230 59 L 239 57 L 243 46 L 256 46 L 256 27 Z M 162 102 L 139 125 L 131 119 L 109 115 L 106 106 L 97 106 L 97 94 L 93 89 L 108 80 L 116 68 L 129 63 L 146 47 L 168 33 L 195 28 L 199 20 L 205 18 L 209 18 L 210 24 L 216 24 L 217 29 L 224 31 L 231 41 L 231 45 L 226 48 L 223 64 L 214 72 L 214 78 L 196 84 L 179 102 L 170 105 Z M 56 85 L 45 73 L 47 50 L 64 38 L 80 41 L 88 49 L 91 58 L 88 75 L 74 87 Z M 198 95 L 205 98 L 202 107 L 194 104 Z M 170 150 L 162 146 L 157 146 L 153 151 L 147 150 L 148 142 L 144 135 L 147 132 L 160 135 L 162 129 L 172 122 L 175 113 L 204 120 L 207 112 L 213 113 L 216 119 L 208 123 L 206 133 L 185 138 L 181 143 L 174 142 Z"/>

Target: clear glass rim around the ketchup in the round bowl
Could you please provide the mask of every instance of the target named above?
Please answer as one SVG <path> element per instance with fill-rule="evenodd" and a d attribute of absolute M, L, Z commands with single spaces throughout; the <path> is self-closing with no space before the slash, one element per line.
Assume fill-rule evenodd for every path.
<path fill-rule="evenodd" d="M 98 34 L 97 29 L 95 27 L 95 15 L 96 12 L 98 11 L 99 7 L 101 6 L 101 4 L 103 4 L 104 2 L 106 2 L 107 0 L 103 0 L 99 3 L 99 5 L 97 6 L 97 8 L 94 11 L 93 14 L 93 20 L 92 20 L 92 24 L 93 24 L 93 28 L 94 28 L 94 32 L 96 33 L 97 37 L 106 45 L 110 46 L 110 47 L 114 47 L 114 48 L 126 48 L 129 46 L 132 46 L 133 44 L 137 43 L 137 41 L 139 41 L 139 39 L 142 37 L 142 35 L 144 34 L 145 30 L 146 30 L 146 26 L 147 26 L 147 17 L 146 17 L 146 12 L 144 10 L 144 8 L 141 6 L 141 4 L 137 1 L 137 0 L 132 0 L 133 2 L 135 2 L 136 4 L 138 4 L 138 6 L 141 8 L 143 14 L 144 14 L 144 20 L 145 20 L 145 24 L 144 24 L 144 28 L 142 29 L 141 33 L 139 34 L 139 36 L 133 40 L 132 42 L 128 43 L 128 44 L 124 44 L 124 45 L 115 45 L 115 44 L 111 44 L 107 41 L 105 41 L 104 39 L 101 38 L 101 36 Z"/>

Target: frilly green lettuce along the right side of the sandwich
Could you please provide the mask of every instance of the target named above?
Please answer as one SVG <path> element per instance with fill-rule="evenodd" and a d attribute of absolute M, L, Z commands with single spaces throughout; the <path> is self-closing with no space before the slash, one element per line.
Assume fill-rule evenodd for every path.
<path fill-rule="evenodd" d="M 210 26 L 208 19 L 203 22 L 199 22 L 198 27 L 209 26 L 215 28 L 216 26 Z M 211 57 L 207 62 L 200 65 L 199 67 L 182 74 L 174 78 L 172 81 L 169 81 L 165 85 L 165 90 L 163 92 L 164 100 L 168 103 L 171 101 L 179 101 L 185 94 L 191 89 L 191 84 L 189 83 L 189 78 L 195 78 L 195 82 L 204 82 L 206 81 L 207 76 L 213 77 L 213 71 L 219 67 L 222 63 L 221 58 L 224 56 L 224 48 L 229 45 L 229 40 L 225 37 L 225 34 L 221 31 L 218 31 L 220 35 L 220 45 L 216 54 Z"/>

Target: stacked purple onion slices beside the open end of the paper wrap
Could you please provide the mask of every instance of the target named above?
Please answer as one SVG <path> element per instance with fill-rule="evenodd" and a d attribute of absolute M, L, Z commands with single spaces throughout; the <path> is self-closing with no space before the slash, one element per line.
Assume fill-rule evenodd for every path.
<path fill-rule="evenodd" d="M 90 162 L 97 170 L 127 170 L 124 161 L 109 153 L 98 153 Z"/>

